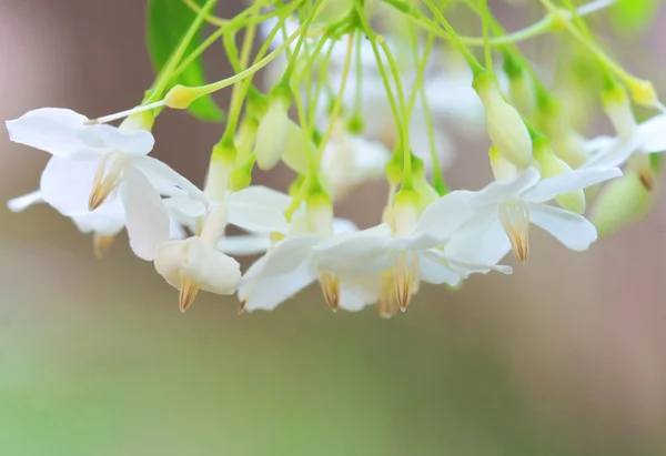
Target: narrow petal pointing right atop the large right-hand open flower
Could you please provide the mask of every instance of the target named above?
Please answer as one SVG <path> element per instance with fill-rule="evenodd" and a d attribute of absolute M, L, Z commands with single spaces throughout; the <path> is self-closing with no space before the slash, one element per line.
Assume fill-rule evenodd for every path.
<path fill-rule="evenodd" d="M 553 178 L 544 179 L 523 194 L 525 201 L 542 203 L 554 197 L 587 189 L 599 182 L 619 178 L 619 168 L 582 168 Z"/>

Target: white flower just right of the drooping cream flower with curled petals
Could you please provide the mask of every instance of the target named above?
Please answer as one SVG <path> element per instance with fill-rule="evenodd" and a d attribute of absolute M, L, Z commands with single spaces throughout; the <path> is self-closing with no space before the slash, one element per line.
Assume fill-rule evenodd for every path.
<path fill-rule="evenodd" d="M 374 302 L 379 288 L 362 277 L 342 280 L 317 265 L 312 247 L 331 235 L 357 230 L 346 220 L 333 220 L 331 207 L 299 211 L 292 216 L 287 235 L 259 259 L 243 275 L 239 286 L 241 308 L 273 310 L 279 304 L 320 281 L 333 310 L 359 311 Z"/>

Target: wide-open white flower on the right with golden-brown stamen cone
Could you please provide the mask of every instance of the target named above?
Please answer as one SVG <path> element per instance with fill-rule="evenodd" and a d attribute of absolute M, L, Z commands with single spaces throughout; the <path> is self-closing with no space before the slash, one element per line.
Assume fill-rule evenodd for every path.
<path fill-rule="evenodd" d="M 478 192 L 453 192 L 426 212 L 435 220 L 457 220 L 457 233 L 446 245 L 446 253 L 457 257 L 494 264 L 513 249 L 515 256 L 524 262 L 532 223 L 568 249 L 584 251 L 597 239 L 594 225 L 582 215 L 546 202 L 619 175 L 622 171 L 617 168 L 584 169 L 542 181 L 538 171 L 528 168 L 514 179 L 495 181 Z M 446 197 L 454 195 L 466 204 L 452 212 Z M 434 227 L 428 233 L 436 236 L 438 231 Z"/>

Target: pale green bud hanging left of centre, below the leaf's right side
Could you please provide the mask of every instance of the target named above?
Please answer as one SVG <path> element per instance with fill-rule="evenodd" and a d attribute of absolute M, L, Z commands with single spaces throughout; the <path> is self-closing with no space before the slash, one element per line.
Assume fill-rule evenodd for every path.
<path fill-rule="evenodd" d="M 262 170 L 270 170 L 278 164 L 289 135 L 289 103 L 282 98 L 274 98 L 266 114 L 259 122 L 254 152 L 256 164 Z"/>

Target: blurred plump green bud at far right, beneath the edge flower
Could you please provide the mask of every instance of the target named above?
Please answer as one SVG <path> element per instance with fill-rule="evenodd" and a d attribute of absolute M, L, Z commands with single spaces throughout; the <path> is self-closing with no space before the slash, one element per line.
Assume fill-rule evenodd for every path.
<path fill-rule="evenodd" d="M 595 202 L 589 220 L 599 237 L 615 234 L 623 226 L 643 219 L 653 207 L 656 192 L 645 189 L 634 171 L 606 184 Z"/>

